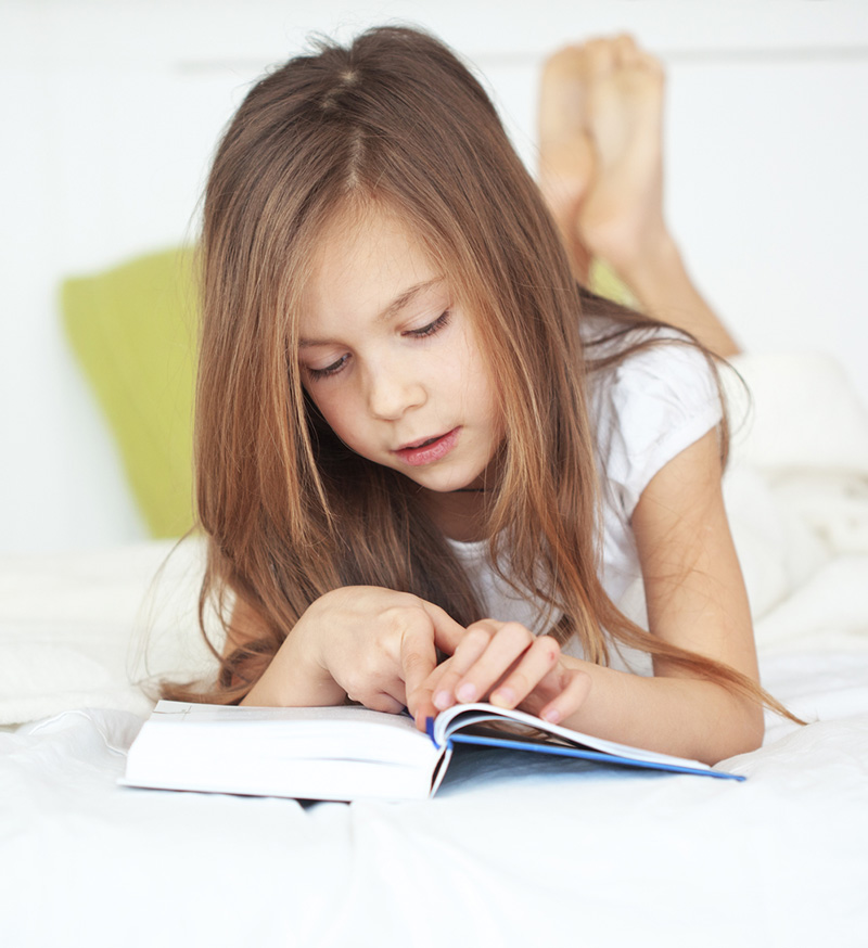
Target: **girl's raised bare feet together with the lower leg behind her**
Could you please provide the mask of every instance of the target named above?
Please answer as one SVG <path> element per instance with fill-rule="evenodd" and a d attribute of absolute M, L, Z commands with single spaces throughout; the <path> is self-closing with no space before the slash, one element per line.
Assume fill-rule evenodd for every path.
<path fill-rule="evenodd" d="M 540 188 L 586 280 L 609 264 L 648 313 L 722 356 L 739 346 L 693 285 L 663 214 L 663 69 L 631 38 L 561 50 L 542 73 Z"/>

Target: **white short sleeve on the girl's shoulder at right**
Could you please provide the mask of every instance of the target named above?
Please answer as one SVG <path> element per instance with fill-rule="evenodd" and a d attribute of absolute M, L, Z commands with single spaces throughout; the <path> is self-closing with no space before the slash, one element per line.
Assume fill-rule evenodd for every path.
<path fill-rule="evenodd" d="M 671 338 L 591 376 L 605 500 L 625 523 L 653 476 L 723 418 L 707 359 L 677 334 Z"/>

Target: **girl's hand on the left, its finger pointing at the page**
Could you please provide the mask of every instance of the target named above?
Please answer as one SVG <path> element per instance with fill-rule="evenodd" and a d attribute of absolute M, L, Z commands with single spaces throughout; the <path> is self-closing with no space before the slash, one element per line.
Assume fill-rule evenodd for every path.
<path fill-rule="evenodd" d="M 323 706 L 344 697 L 397 713 L 464 629 L 439 606 L 374 586 L 334 589 L 296 623 L 244 704 Z"/>

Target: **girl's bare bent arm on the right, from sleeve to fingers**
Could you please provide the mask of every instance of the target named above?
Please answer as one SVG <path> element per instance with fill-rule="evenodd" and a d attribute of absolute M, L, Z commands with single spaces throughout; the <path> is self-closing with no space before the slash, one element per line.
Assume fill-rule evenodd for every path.
<path fill-rule="evenodd" d="M 649 629 L 756 682 L 748 595 L 720 474 L 717 436 L 710 432 L 666 464 L 639 500 L 633 527 Z M 494 703 L 518 705 L 542 717 L 563 708 L 565 696 L 566 706 L 574 706 L 559 718 L 565 727 L 710 764 L 762 742 L 758 702 L 692 678 L 672 663 L 655 661 L 654 677 L 647 678 L 556 654 L 545 676 L 533 669 L 528 675 L 529 663 L 521 658 L 516 664 L 509 651 L 507 632 L 514 624 L 497 625 L 501 628 L 493 630 L 485 649 L 468 654 L 472 642 L 462 642 L 455 667 L 434 672 L 429 687 L 438 707 L 451 704 L 456 695 L 462 700 L 468 684 L 478 695 L 490 691 Z M 444 690 L 448 696 L 438 699 Z"/>

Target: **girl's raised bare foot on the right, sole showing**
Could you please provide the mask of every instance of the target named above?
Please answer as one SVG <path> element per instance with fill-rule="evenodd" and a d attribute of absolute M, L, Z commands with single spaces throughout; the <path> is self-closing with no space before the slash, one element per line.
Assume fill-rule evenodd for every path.
<path fill-rule="evenodd" d="M 576 217 L 578 240 L 629 282 L 666 239 L 663 69 L 628 36 L 591 40 L 575 61 L 595 174 Z"/>

